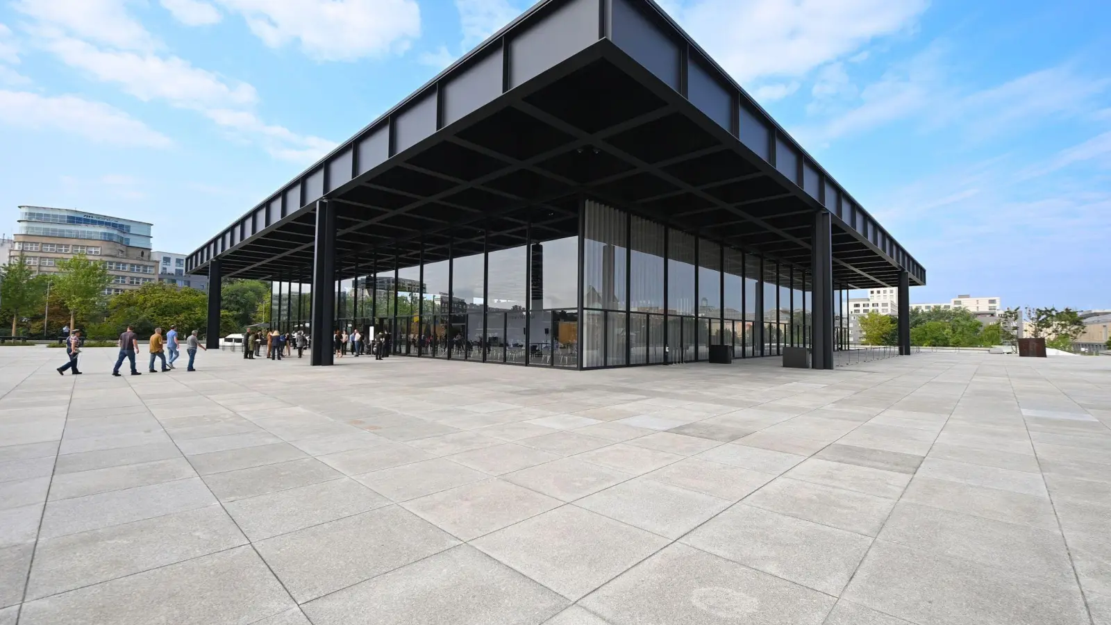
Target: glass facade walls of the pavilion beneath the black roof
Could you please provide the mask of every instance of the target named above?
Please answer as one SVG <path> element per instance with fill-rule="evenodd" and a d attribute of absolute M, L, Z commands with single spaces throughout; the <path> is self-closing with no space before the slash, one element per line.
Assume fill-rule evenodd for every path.
<path fill-rule="evenodd" d="M 372 250 L 337 281 L 337 327 L 382 336 L 392 355 L 571 369 L 810 346 L 802 268 L 591 200 L 508 222 Z M 278 298 L 276 286 L 283 326 L 309 319 L 307 287 L 287 282 Z M 837 311 L 842 301 L 835 291 Z M 844 336 L 839 312 L 838 349 Z"/>

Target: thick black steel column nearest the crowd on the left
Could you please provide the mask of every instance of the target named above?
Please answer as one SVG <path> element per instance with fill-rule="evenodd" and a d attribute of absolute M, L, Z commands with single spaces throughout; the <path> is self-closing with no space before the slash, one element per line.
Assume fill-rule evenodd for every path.
<path fill-rule="evenodd" d="M 336 212 L 327 199 L 317 200 L 317 231 L 312 249 L 312 365 L 331 365 L 336 323 Z"/>

